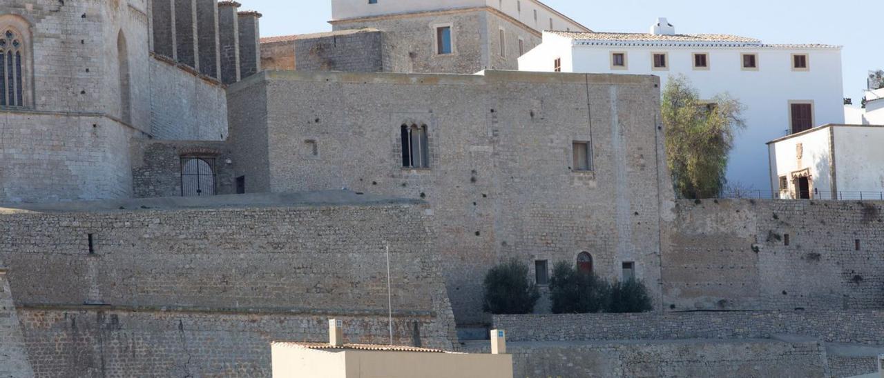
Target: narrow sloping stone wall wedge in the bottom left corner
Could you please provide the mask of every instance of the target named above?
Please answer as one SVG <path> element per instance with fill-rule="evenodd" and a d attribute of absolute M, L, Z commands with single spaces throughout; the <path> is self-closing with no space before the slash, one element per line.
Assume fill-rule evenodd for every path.
<path fill-rule="evenodd" d="M 27 361 L 25 338 L 21 334 L 19 316 L 12 305 L 12 294 L 6 282 L 6 270 L 0 266 L 0 377 L 28 378 L 34 370 Z"/>

